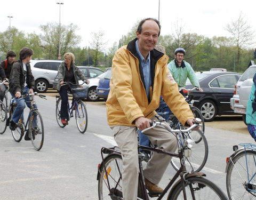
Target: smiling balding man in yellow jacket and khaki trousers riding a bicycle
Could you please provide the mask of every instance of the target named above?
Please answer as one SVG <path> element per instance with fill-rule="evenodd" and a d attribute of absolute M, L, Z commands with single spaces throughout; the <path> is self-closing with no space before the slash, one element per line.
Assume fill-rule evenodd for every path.
<path fill-rule="evenodd" d="M 123 156 L 123 198 L 137 199 L 138 190 L 138 140 L 137 128 L 144 130 L 150 122 L 163 121 L 155 109 L 162 95 L 182 124 L 193 125 L 194 115 L 178 85 L 166 75 L 167 55 L 154 49 L 161 26 L 156 19 L 147 18 L 139 23 L 137 38 L 121 47 L 114 55 L 110 92 L 107 106 L 108 124 Z M 177 141 L 173 134 L 161 127 L 145 132 L 158 148 L 175 151 Z M 159 194 L 161 180 L 171 157 L 153 154 L 144 169 L 146 187 L 150 193 Z"/>

